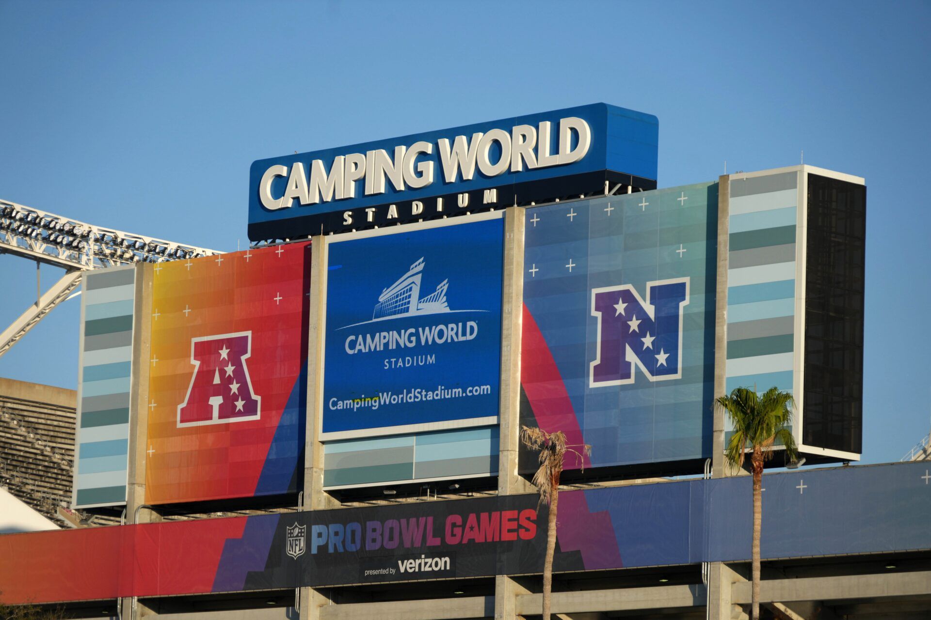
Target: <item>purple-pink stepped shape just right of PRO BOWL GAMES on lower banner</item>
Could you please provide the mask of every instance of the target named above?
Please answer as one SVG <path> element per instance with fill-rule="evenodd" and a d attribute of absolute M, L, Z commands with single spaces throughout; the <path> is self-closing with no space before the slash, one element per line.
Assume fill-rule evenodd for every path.
<path fill-rule="evenodd" d="M 585 491 L 560 493 L 556 537 L 561 551 L 582 554 L 586 570 L 624 566 L 611 515 L 607 510 L 589 511 Z"/>

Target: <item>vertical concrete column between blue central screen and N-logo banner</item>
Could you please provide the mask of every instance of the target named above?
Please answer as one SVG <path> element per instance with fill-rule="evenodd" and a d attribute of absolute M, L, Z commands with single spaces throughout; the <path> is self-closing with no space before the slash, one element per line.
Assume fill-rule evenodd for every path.
<path fill-rule="evenodd" d="M 529 493 L 518 475 L 520 436 L 520 325 L 523 314 L 524 209 L 505 210 L 504 279 L 501 294 L 501 400 L 498 495 Z"/>

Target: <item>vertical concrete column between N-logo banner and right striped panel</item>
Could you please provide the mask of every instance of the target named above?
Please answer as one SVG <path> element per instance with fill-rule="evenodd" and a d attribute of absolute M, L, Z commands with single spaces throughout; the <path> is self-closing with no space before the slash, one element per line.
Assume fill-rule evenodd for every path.
<path fill-rule="evenodd" d="M 727 252 L 730 247 L 729 214 L 731 211 L 731 177 L 718 178 L 718 277 L 715 289 L 714 320 L 714 397 L 727 389 Z M 714 407 L 711 435 L 711 477 L 729 474 L 724 463 L 724 413 Z"/>

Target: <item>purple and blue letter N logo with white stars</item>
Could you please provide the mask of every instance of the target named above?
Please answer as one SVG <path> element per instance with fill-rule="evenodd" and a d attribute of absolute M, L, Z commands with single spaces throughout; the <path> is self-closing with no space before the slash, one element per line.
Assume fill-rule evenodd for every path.
<path fill-rule="evenodd" d="M 688 278 L 648 282 L 646 301 L 630 284 L 592 289 L 598 352 L 589 387 L 633 383 L 634 366 L 651 381 L 681 378 L 682 309 L 688 303 Z"/>

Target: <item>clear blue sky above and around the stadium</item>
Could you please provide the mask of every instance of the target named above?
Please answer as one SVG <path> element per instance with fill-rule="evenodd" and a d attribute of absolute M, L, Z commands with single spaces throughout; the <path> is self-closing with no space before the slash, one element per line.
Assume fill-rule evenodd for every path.
<path fill-rule="evenodd" d="M 929 24 L 919 2 L 0 0 L 0 197 L 235 250 L 250 163 L 294 151 L 596 101 L 659 117 L 660 187 L 804 150 L 867 179 L 864 462 L 897 460 L 931 413 Z M 2 327 L 34 271 L 0 257 Z M 74 388 L 78 314 L 0 376 Z"/>

